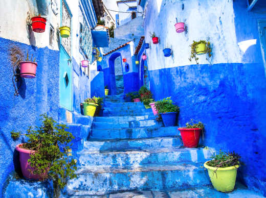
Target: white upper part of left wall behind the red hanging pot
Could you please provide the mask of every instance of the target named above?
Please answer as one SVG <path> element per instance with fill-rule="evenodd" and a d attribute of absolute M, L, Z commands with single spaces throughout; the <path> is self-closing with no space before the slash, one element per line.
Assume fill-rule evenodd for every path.
<path fill-rule="evenodd" d="M 58 50 L 56 29 L 60 26 L 60 0 L 55 0 L 55 2 L 58 5 L 58 14 L 55 15 L 51 9 L 51 5 L 47 5 L 48 15 L 42 15 L 47 18 L 46 31 L 43 33 L 31 32 L 31 39 L 28 39 L 26 28 L 27 12 L 31 13 L 31 17 L 35 16 L 35 13 L 38 13 L 36 0 L 0 1 L 0 37 L 31 44 L 36 47 L 47 46 L 52 50 Z M 55 30 L 52 45 L 49 45 L 50 24 Z"/>

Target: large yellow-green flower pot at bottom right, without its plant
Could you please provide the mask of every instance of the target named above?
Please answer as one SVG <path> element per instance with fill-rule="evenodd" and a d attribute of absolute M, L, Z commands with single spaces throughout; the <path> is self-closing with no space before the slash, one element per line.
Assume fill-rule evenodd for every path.
<path fill-rule="evenodd" d="M 208 169 L 208 174 L 213 187 L 221 192 L 233 191 L 235 187 L 237 168 L 239 165 L 217 169 L 216 167 L 208 166 L 207 162 L 204 163 L 204 167 Z M 216 173 L 214 172 L 215 170 Z"/>

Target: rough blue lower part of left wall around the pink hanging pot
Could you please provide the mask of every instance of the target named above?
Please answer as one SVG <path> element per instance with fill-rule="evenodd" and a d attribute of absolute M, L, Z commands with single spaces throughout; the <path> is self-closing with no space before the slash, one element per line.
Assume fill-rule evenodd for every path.
<path fill-rule="evenodd" d="M 59 51 L 37 48 L 0 38 L 0 185 L 14 169 L 13 152 L 21 139 L 13 141 L 10 132 L 25 132 L 39 124 L 39 115 L 45 112 L 58 120 L 59 105 Z M 14 96 L 12 64 L 9 47 L 16 46 L 25 54 L 29 50 L 37 60 L 36 78 L 23 79 L 19 96 Z M 0 188 L 0 195 L 2 187 Z"/>

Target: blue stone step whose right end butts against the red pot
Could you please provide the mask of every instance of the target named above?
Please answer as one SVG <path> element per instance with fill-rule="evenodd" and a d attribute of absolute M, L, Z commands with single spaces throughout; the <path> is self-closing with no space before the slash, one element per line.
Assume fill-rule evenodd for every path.
<path fill-rule="evenodd" d="M 124 152 L 142 151 L 146 149 L 158 149 L 166 147 L 182 146 L 181 137 L 159 137 L 149 139 L 113 140 L 113 141 L 85 141 L 85 152 Z"/>

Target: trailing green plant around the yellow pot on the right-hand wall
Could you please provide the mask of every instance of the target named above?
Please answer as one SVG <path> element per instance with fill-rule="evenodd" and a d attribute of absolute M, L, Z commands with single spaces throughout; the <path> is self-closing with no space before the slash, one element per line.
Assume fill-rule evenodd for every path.
<path fill-rule="evenodd" d="M 207 58 L 206 60 L 209 61 L 209 63 L 211 64 L 211 60 L 210 58 L 212 57 L 212 47 L 210 44 L 209 40 L 200 40 L 198 42 L 193 41 L 193 43 L 191 45 L 189 45 L 191 47 L 191 54 L 190 54 L 190 58 L 188 59 L 189 61 L 192 61 L 192 59 L 194 59 L 196 61 L 196 63 L 198 64 L 198 57 L 196 57 L 196 47 L 198 44 L 203 43 L 205 44 L 205 51 L 204 53 L 207 53 Z"/>

